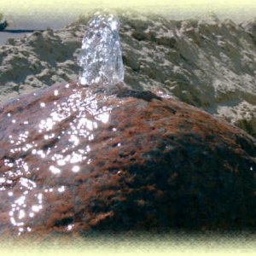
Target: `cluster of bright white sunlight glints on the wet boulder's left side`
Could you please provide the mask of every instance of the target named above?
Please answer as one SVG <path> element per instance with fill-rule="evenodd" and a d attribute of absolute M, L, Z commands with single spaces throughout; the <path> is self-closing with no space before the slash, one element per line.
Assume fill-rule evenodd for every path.
<path fill-rule="evenodd" d="M 70 85 L 65 85 L 68 86 Z M 54 95 L 60 95 L 60 91 L 55 90 Z M 81 89 L 79 91 L 74 89 L 71 96 L 56 102 L 51 107 L 44 102 L 39 102 L 38 105 L 44 108 L 47 115 L 44 114 L 38 123 L 33 123 L 31 119 L 21 122 L 19 125 L 24 125 L 23 131 L 20 129 L 22 132 L 9 136 L 12 148 L 9 150 L 9 158 L 3 160 L 8 170 L 0 174 L 0 190 L 8 189 L 11 201 L 9 221 L 16 228 L 19 236 L 33 230 L 33 219 L 40 218 L 45 195 L 67 193 L 64 183 L 59 183 L 55 188 L 48 187 L 46 183 L 41 188 L 33 177 L 30 177 L 31 173 L 37 175 L 46 170 L 50 179 L 61 178 L 67 175 L 67 172 L 73 173 L 73 176 L 84 172 L 86 165 L 92 163 L 90 158 L 92 148 L 89 143 L 95 140 L 95 131 L 98 127 L 109 122 L 112 110 L 100 107 L 96 96 L 90 93 L 84 97 Z M 34 130 L 31 130 L 31 127 L 26 128 L 29 125 L 32 125 Z M 66 125 L 65 131 L 60 130 L 62 125 Z M 44 141 L 44 148 L 37 143 L 37 137 Z M 65 142 L 64 146 L 62 144 L 59 146 L 61 142 Z M 16 154 L 24 154 L 24 157 L 17 158 Z M 26 155 L 35 161 L 44 161 L 46 168 L 40 170 L 38 166 L 30 166 L 26 161 Z M 72 229 L 72 224 L 67 226 L 67 230 Z"/>

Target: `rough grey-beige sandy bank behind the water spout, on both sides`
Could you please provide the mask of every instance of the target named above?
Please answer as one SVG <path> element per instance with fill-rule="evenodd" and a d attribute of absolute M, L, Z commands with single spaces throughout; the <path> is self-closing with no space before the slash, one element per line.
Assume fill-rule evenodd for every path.
<path fill-rule="evenodd" d="M 89 19 L 9 39 L 0 49 L 0 102 L 76 79 Z M 119 14 L 119 20 L 126 84 L 165 90 L 255 137 L 255 20 L 237 25 L 214 15 L 166 20 L 129 13 Z"/>

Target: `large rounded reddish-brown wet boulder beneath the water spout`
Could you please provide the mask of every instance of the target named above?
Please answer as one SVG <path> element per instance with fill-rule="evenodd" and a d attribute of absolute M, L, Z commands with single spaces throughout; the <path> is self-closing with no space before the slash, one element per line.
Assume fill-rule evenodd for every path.
<path fill-rule="evenodd" d="M 255 230 L 255 157 L 161 91 L 55 84 L 0 110 L 0 232 Z"/>

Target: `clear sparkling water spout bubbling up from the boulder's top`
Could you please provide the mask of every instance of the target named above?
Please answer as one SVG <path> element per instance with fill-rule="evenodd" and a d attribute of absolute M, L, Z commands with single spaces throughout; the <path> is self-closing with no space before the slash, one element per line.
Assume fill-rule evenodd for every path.
<path fill-rule="evenodd" d="M 118 84 L 124 80 L 119 20 L 96 13 L 89 21 L 78 59 L 80 84 Z"/>

